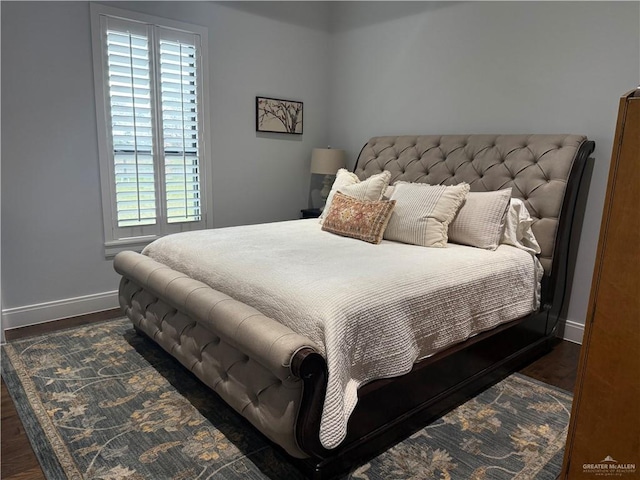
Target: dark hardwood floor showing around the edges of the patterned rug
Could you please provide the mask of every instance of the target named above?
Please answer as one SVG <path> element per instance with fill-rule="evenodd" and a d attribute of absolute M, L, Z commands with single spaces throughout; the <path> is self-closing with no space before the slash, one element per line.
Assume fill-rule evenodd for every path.
<path fill-rule="evenodd" d="M 98 318 L 104 320 L 114 316 L 118 315 L 114 315 L 114 312 L 111 312 L 110 314 L 102 314 Z M 76 321 L 74 320 L 73 322 Z M 84 323 L 88 321 L 97 320 L 91 316 L 84 319 Z M 62 327 L 59 324 L 58 328 L 66 328 L 75 324 L 64 324 Z M 45 333 L 51 331 L 52 327 L 52 325 L 43 326 L 41 331 L 36 327 L 29 327 L 29 330 L 19 334 L 13 332 L 16 335 L 10 335 L 10 337 L 18 338 Z M 572 392 L 576 381 L 579 357 L 580 345 L 559 341 L 550 353 L 523 368 L 520 373 Z M 2 380 L 1 408 L 0 478 L 3 480 L 46 480 L 25 434 L 13 401 L 9 396 L 4 380 Z"/>

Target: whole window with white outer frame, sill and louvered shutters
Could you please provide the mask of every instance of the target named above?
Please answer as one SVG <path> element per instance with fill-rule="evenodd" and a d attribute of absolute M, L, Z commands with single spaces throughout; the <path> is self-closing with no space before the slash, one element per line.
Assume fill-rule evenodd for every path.
<path fill-rule="evenodd" d="M 91 4 L 105 251 L 211 224 L 207 31 Z"/>

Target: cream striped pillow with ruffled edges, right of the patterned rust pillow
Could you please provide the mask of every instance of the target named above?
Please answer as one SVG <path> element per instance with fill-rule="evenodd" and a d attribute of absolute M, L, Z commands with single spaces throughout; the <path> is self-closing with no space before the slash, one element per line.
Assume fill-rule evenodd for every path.
<path fill-rule="evenodd" d="M 467 183 L 445 186 L 397 182 L 391 194 L 396 207 L 384 238 L 423 247 L 446 247 L 449 223 L 467 193 Z"/>

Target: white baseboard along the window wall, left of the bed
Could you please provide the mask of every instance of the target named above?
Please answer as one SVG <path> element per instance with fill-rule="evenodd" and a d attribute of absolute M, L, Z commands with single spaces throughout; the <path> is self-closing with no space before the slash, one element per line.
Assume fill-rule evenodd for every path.
<path fill-rule="evenodd" d="M 60 320 L 61 318 L 101 312 L 118 306 L 118 291 L 114 290 L 112 292 L 54 300 L 53 302 L 7 308 L 2 310 L 2 337 L 4 339 L 4 331 L 10 328 L 26 327 Z"/>

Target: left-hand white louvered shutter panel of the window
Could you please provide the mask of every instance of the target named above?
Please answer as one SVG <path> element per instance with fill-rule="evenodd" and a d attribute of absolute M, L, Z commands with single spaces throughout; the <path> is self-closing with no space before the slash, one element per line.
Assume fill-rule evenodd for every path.
<path fill-rule="evenodd" d="M 110 20 L 106 50 L 117 225 L 154 225 L 157 202 L 148 29 Z"/>

